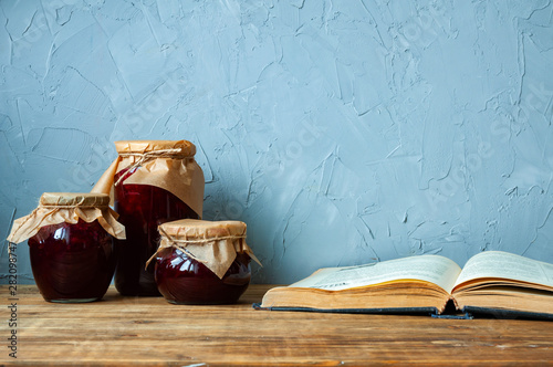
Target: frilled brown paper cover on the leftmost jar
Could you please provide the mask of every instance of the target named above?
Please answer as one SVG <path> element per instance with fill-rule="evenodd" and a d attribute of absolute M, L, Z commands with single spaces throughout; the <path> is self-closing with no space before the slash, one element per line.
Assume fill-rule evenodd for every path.
<path fill-rule="evenodd" d="M 44 192 L 36 209 L 13 221 L 8 241 L 19 243 L 36 234 L 44 226 L 75 224 L 79 219 L 87 223 L 97 220 L 106 232 L 125 239 L 125 227 L 117 222 L 117 213 L 108 205 L 109 196 L 105 193 Z"/>

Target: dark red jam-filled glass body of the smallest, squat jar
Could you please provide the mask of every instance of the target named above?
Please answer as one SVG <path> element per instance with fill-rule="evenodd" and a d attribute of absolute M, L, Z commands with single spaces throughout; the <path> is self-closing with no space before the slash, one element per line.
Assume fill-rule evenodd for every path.
<path fill-rule="evenodd" d="M 237 254 L 222 279 L 179 249 L 167 248 L 157 255 L 157 286 L 170 303 L 237 303 L 248 289 L 250 279 L 250 256 L 244 253 Z"/>

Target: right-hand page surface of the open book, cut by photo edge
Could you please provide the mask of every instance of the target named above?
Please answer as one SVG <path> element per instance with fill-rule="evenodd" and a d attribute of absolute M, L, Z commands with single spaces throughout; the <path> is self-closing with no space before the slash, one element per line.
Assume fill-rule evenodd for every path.
<path fill-rule="evenodd" d="M 456 286 L 478 277 L 503 277 L 553 286 L 553 264 L 502 251 L 486 251 L 467 261 Z"/>

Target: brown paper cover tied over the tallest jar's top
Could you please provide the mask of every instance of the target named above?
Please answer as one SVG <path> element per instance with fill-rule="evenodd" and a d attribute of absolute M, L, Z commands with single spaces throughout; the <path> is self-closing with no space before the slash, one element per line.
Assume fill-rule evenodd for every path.
<path fill-rule="evenodd" d="M 200 218 L 204 207 L 204 172 L 194 159 L 196 146 L 188 140 L 115 141 L 118 157 L 96 182 L 92 192 L 111 193 L 114 177 L 123 169 L 124 184 L 150 185 L 165 189 L 190 207 Z M 131 169 L 129 169 L 131 170 Z"/>

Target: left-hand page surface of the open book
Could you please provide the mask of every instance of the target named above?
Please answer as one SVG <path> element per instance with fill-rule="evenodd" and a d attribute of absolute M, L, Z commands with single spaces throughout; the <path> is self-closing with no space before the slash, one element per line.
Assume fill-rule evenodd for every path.
<path fill-rule="evenodd" d="M 367 265 L 327 268 L 290 286 L 340 291 L 389 281 L 419 280 L 451 292 L 461 268 L 439 255 L 418 255 Z"/>

